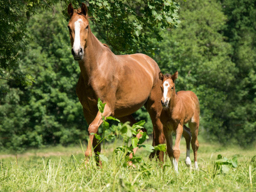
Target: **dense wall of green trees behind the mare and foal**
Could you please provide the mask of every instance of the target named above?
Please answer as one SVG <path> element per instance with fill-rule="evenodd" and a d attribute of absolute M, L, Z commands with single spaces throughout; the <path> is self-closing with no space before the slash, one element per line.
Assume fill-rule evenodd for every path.
<path fill-rule="evenodd" d="M 75 93 L 79 66 L 70 54 L 67 15 L 61 13 L 69 2 L 36 2 L 27 1 L 24 6 L 0 1 L 2 150 L 67 145 L 87 138 L 87 124 Z M 206 138 L 243 146 L 253 143 L 256 1 L 180 1 L 177 28 L 173 27 L 179 23 L 175 2 L 165 6 L 153 0 L 115 2 L 90 1 L 91 26 L 100 41 L 115 53 L 150 55 L 163 73 L 178 70 L 176 90 L 192 90 L 198 95 L 200 130 Z M 16 6 L 22 12 L 14 12 Z M 144 108 L 134 116 L 146 119 L 145 127 L 152 132 Z"/>

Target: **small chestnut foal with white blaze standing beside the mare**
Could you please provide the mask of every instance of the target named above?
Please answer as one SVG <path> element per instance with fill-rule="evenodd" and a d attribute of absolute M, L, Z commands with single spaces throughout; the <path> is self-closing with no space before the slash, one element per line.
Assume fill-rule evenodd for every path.
<path fill-rule="evenodd" d="M 162 105 L 161 122 L 163 123 L 163 132 L 166 137 L 167 153 L 174 165 L 174 169 L 178 172 L 178 160 L 180 157 L 180 139 L 183 136 L 186 139 L 186 165 L 191 167 L 191 160 L 189 157 L 189 142 L 194 152 L 195 169 L 198 169 L 197 151 L 198 151 L 198 127 L 200 107 L 198 97 L 192 91 L 175 92 L 174 81 L 178 77 L 176 71 L 172 76 L 170 74 L 163 75 L 159 73 L 159 78 L 162 80 Z M 189 128 L 184 124 L 189 123 Z M 176 132 L 176 140 L 174 148 L 172 149 L 172 131 Z M 184 131 L 184 132 L 183 132 Z"/>

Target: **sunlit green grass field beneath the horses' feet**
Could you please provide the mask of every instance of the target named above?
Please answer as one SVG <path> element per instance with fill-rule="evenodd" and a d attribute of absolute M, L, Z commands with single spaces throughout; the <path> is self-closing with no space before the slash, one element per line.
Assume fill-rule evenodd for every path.
<path fill-rule="evenodd" d="M 199 170 L 185 165 L 186 147 L 182 139 L 179 173 L 168 159 L 164 166 L 148 160 L 149 152 L 140 149 L 143 160 L 136 167 L 122 166 L 113 155 L 113 143 L 107 143 L 108 163 L 102 168 L 93 159 L 84 166 L 81 146 L 49 147 L 23 154 L 0 154 L 0 191 L 255 191 L 256 148 L 242 149 L 203 141 L 199 137 Z M 148 140 L 151 143 L 151 140 Z M 238 156 L 237 168 L 228 174 L 214 171 L 217 155 Z M 112 159 L 113 155 L 113 159 Z M 112 159 L 112 160 L 111 160 Z M 191 160 L 193 155 L 191 150 Z M 251 183 L 249 166 L 251 166 Z"/>

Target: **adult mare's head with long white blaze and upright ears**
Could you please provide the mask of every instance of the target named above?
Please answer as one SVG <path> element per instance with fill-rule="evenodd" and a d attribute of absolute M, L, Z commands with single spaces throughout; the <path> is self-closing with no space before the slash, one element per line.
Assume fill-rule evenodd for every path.
<path fill-rule="evenodd" d="M 81 10 L 74 10 L 70 3 L 67 12 L 70 15 L 67 27 L 70 32 L 71 52 L 75 60 L 81 60 L 84 57 L 84 48 L 87 45 L 89 32 L 87 6 L 82 3 Z"/>

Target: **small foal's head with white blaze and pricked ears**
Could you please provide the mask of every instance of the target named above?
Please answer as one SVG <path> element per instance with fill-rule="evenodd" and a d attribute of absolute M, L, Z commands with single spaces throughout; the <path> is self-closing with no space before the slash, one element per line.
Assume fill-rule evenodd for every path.
<path fill-rule="evenodd" d="M 176 71 L 172 76 L 170 74 L 163 75 L 162 72 L 159 73 L 159 78 L 162 80 L 161 90 L 162 99 L 161 103 L 163 107 L 168 107 L 169 101 L 172 99 L 173 93 L 175 93 L 175 79 L 178 78 L 178 72 Z"/>

